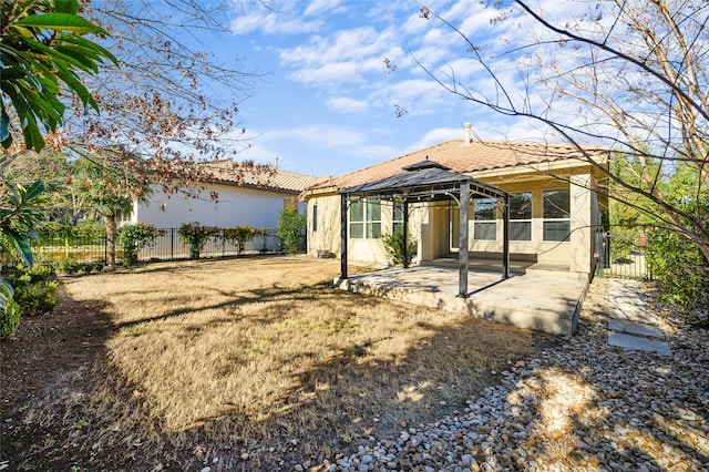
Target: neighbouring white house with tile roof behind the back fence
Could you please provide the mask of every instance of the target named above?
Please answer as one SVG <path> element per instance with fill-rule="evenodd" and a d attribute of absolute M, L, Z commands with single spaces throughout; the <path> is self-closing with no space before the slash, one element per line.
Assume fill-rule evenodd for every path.
<path fill-rule="evenodd" d="M 154 185 L 147 203 L 135 201 L 121 224 L 145 223 L 167 229 L 197 222 L 203 226 L 250 226 L 274 233 L 282 209 L 306 211 L 298 195 L 318 182 L 311 175 L 278 168 L 278 158 L 275 166 L 265 170 L 244 171 L 232 161 L 195 165 L 208 167 L 209 177 L 175 193 Z M 267 248 L 273 249 L 275 244 L 275 238 L 269 238 Z"/>

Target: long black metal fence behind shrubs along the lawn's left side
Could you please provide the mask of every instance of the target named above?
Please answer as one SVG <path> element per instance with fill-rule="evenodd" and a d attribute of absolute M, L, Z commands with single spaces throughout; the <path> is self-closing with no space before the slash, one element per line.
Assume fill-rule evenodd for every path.
<path fill-rule="evenodd" d="M 154 244 L 140 250 L 138 260 L 176 260 L 189 258 L 189 245 L 184 243 L 177 232 L 178 228 L 165 228 L 163 236 L 155 239 Z M 220 237 L 209 238 L 201 253 L 202 258 L 228 257 L 240 254 L 276 253 L 282 248 L 282 242 L 276 230 L 267 230 L 265 236 L 256 236 L 247 242 L 244 247 L 238 247 L 225 242 Z M 96 263 L 107 259 L 105 236 L 58 236 L 42 238 L 32 244 L 34 258 L 41 264 L 56 264 L 64 259 L 73 259 L 76 263 Z M 123 252 L 116 245 L 116 261 L 123 260 Z"/>

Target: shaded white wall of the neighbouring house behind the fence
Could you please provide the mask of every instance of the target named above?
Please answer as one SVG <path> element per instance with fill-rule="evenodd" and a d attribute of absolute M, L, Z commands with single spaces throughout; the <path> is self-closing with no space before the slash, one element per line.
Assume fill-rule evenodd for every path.
<path fill-rule="evenodd" d="M 210 198 L 217 192 L 217 201 Z M 199 191 L 186 187 L 182 192 L 166 195 L 156 189 L 147 204 L 136 203 L 130 223 L 150 223 L 156 228 L 177 228 L 184 223 L 198 222 L 204 226 L 251 226 L 276 229 L 280 212 L 286 202 L 297 202 L 294 193 L 260 188 L 209 185 Z M 306 203 L 298 202 L 305 212 Z"/>

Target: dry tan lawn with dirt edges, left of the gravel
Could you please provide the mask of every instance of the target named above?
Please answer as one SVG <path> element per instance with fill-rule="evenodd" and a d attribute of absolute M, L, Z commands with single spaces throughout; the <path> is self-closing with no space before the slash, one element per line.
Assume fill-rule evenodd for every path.
<path fill-rule="evenodd" d="M 338 265 L 64 279 L 71 297 L 2 341 L 0 465 L 289 470 L 462 411 L 559 342 L 335 290 Z"/>

